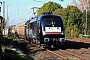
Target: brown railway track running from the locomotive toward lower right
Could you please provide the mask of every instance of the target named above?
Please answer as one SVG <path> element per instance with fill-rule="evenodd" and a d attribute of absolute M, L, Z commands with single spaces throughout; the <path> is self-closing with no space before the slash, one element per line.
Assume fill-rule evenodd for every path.
<path fill-rule="evenodd" d="M 44 49 L 43 47 L 40 47 L 40 48 Z M 62 60 L 88 60 L 82 56 L 79 56 L 78 54 L 73 54 L 73 53 L 66 51 L 66 50 L 59 49 L 59 50 L 51 51 L 51 50 L 47 49 L 46 51 L 59 57 Z"/>

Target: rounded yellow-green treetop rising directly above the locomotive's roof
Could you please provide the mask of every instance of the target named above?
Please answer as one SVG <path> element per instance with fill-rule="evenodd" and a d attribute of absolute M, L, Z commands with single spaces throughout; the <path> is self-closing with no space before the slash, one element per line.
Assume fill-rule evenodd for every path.
<path fill-rule="evenodd" d="M 49 1 L 48 3 L 45 3 L 37 12 L 37 16 L 41 15 L 44 12 L 53 12 L 58 8 L 62 8 L 60 4 L 56 2 Z"/>

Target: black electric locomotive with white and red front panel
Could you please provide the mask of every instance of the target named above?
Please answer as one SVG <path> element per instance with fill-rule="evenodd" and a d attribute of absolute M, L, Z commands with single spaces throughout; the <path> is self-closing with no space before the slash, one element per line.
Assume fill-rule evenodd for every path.
<path fill-rule="evenodd" d="M 60 16 L 43 14 L 26 22 L 25 36 L 30 42 L 58 47 L 65 42 L 64 24 Z"/>

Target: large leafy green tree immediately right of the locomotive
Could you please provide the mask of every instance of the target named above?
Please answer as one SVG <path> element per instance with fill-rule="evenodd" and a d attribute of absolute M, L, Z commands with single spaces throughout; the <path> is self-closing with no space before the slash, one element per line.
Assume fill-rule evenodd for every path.
<path fill-rule="evenodd" d="M 62 17 L 65 25 L 65 35 L 67 37 L 78 37 L 83 31 L 82 12 L 76 6 L 68 6 L 67 8 L 56 9 L 53 14 Z"/>

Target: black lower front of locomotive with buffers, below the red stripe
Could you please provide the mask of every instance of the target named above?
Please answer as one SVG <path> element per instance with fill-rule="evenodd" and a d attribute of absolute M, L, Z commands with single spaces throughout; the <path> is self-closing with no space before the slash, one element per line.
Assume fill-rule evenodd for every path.
<path fill-rule="evenodd" d="M 41 45 L 43 47 L 57 48 L 61 47 L 64 44 L 65 38 L 44 38 Z"/>

